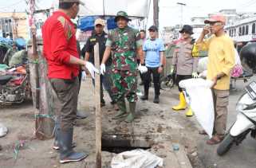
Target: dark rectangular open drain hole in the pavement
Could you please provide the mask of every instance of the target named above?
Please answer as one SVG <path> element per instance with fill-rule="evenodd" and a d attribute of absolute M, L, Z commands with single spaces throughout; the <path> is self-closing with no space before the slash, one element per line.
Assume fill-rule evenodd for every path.
<path fill-rule="evenodd" d="M 101 139 L 101 150 L 120 154 L 128 150 L 148 150 L 153 143 L 142 135 L 116 135 L 103 134 Z"/>

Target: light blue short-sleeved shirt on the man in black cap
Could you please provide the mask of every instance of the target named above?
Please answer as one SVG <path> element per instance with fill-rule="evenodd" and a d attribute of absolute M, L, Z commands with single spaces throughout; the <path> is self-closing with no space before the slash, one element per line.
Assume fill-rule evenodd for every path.
<path fill-rule="evenodd" d="M 143 51 L 146 52 L 145 64 L 147 67 L 160 67 L 160 52 L 164 52 L 164 45 L 161 39 L 148 39 L 144 42 Z"/>

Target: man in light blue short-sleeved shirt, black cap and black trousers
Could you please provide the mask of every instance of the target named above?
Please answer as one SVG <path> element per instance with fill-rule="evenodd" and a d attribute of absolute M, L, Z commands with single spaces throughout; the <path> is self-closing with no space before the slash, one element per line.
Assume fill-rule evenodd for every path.
<path fill-rule="evenodd" d="M 154 103 L 160 103 L 160 73 L 163 71 L 164 45 L 163 41 L 157 38 L 158 29 L 156 25 L 152 25 L 149 29 L 150 38 L 144 42 L 143 51 L 145 56 L 145 64 L 148 72 L 144 73 L 144 96 L 141 100 L 148 100 L 148 89 L 151 82 L 151 74 L 153 74 L 153 82 L 155 88 Z"/>

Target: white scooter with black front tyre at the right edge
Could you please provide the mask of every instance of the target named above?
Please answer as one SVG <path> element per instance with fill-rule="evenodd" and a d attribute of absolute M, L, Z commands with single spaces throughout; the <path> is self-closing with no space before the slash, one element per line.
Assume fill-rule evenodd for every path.
<path fill-rule="evenodd" d="M 256 82 L 253 81 L 246 86 L 246 92 L 238 99 L 236 104 L 238 111 L 237 119 L 230 127 L 223 142 L 217 148 L 217 154 L 226 154 L 233 144 L 239 145 L 246 135 L 250 133 L 256 138 Z"/>

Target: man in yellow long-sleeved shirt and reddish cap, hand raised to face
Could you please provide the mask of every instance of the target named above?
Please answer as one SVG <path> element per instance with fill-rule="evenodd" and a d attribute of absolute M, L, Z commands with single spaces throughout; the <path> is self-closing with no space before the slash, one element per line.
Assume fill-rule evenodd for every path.
<path fill-rule="evenodd" d="M 234 42 L 224 31 L 226 18 L 223 15 L 212 15 L 204 21 L 209 24 L 196 41 L 199 49 L 208 50 L 207 80 L 212 80 L 214 104 L 215 104 L 215 129 L 213 137 L 207 140 L 207 144 L 214 145 L 223 140 L 226 131 L 227 105 L 230 89 L 230 72 L 234 67 Z M 203 41 L 207 33 L 210 38 Z"/>

